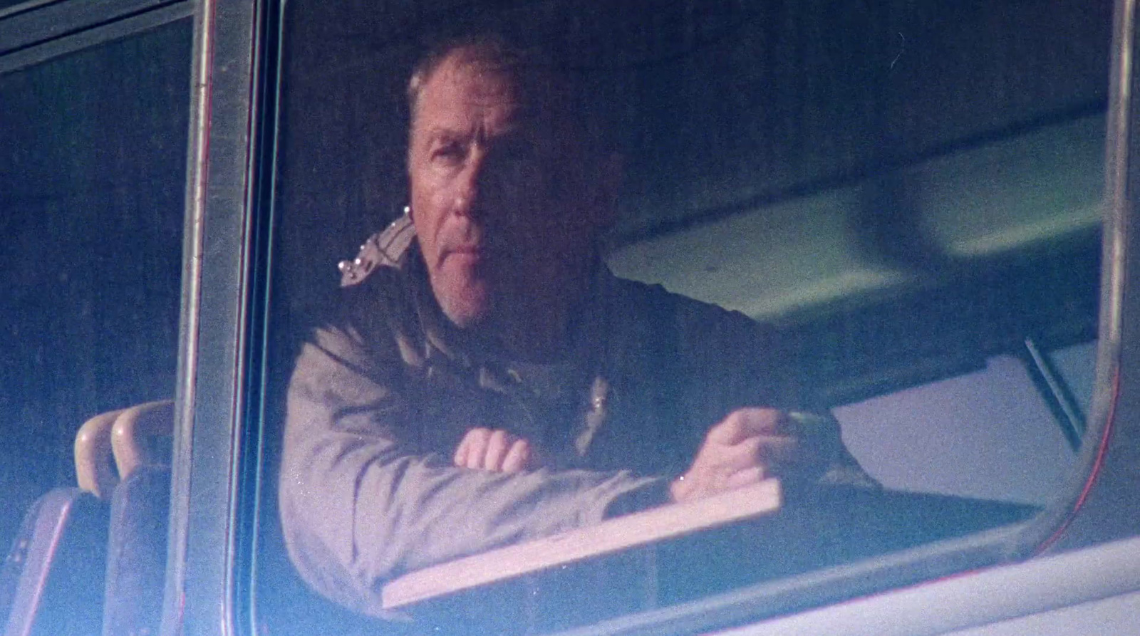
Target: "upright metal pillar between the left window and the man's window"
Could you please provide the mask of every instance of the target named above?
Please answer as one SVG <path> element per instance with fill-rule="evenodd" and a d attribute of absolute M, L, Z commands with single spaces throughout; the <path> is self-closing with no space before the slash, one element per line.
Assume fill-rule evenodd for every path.
<path fill-rule="evenodd" d="M 162 634 L 252 629 L 280 7 L 195 6 Z"/>

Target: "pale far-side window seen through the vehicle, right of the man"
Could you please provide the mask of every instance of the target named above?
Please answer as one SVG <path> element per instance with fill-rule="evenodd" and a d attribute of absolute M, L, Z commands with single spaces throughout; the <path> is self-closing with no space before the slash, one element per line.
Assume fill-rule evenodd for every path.
<path fill-rule="evenodd" d="M 1053 353 L 1088 413 L 1094 345 Z M 836 408 L 852 452 L 883 486 L 1045 505 L 1076 455 L 1012 356 L 986 368 Z"/>

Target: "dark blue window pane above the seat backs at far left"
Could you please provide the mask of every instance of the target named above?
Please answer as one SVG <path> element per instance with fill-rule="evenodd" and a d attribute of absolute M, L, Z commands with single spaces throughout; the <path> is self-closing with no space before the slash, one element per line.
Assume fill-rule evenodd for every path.
<path fill-rule="evenodd" d="M 192 26 L 0 74 L 0 517 L 96 414 L 173 397 Z M 100 581 L 101 582 L 101 581 Z"/>

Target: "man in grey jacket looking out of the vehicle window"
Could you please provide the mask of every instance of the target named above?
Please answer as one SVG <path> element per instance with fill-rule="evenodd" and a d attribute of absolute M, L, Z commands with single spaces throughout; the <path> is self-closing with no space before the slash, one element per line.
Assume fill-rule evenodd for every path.
<path fill-rule="evenodd" d="M 779 475 L 869 482 L 780 407 L 747 317 L 614 278 L 620 165 L 570 84 L 494 39 L 409 82 L 407 215 L 342 263 L 290 386 L 280 514 L 325 595 L 380 614 L 409 570 Z"/>

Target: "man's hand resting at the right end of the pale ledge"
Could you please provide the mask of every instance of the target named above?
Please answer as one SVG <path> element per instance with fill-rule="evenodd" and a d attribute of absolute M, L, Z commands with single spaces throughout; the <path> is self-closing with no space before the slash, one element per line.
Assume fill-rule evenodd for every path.
<path fill-rule="evenodd" d="M 756 483 L 773 468 L 803 460 L 788 415 L 773 408 L 742 408 L 709 429 L 685 474 L 669 484 L 674 502 L 700 499 Z"/>

